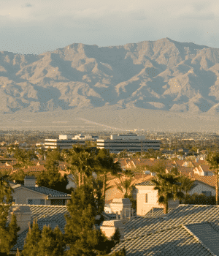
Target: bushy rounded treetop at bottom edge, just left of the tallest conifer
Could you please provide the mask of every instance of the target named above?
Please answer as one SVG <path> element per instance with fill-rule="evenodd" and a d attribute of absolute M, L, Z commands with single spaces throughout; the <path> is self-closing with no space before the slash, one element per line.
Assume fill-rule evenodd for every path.
<path fill-rule="evenodd" d="M 64 242 L 64 235 L 58 226 L 52 230 L 50 226 L 45 225 L 42 229 L 38 246 L 37 256 L 64 255 L 66 244 Z"/>

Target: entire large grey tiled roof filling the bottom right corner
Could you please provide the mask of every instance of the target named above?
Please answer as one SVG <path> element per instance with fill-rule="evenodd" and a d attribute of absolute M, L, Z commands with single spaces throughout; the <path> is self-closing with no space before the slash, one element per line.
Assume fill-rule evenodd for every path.
<path fill-rule="evenodd" d="M 219 240 L 219 206 L 180 205 L 165 216 L 128 220 L 112 252 L 125 246 L 127 256 L 219 255 L 212 236 Z"/>

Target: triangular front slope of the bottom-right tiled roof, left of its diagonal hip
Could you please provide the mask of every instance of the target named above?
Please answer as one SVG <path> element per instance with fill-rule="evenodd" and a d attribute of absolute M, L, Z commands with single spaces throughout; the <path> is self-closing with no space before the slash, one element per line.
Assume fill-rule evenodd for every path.
<path fill-rule="evenodd" d="M 157 233 L 148 233 L 142 237 L 120 242 L 120 244 L 112 249 L 112 252 L 123 249 L 123 247 L 126 249 L 126 256 L 212 255 L 180 225 L 160 230 Z"/>

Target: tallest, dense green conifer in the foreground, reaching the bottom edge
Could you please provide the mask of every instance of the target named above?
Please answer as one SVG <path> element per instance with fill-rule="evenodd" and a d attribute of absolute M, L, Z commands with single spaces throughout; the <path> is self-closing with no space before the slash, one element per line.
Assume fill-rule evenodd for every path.
<path fill-rule="evenodd" d="M 96 256 L 109 252 L 110 241 L 95 227 L 96 200 L 93 188 L 82 185 L 72 192 L 67 205 L 65 241 L 69 246 L 68 255 Z"/>

